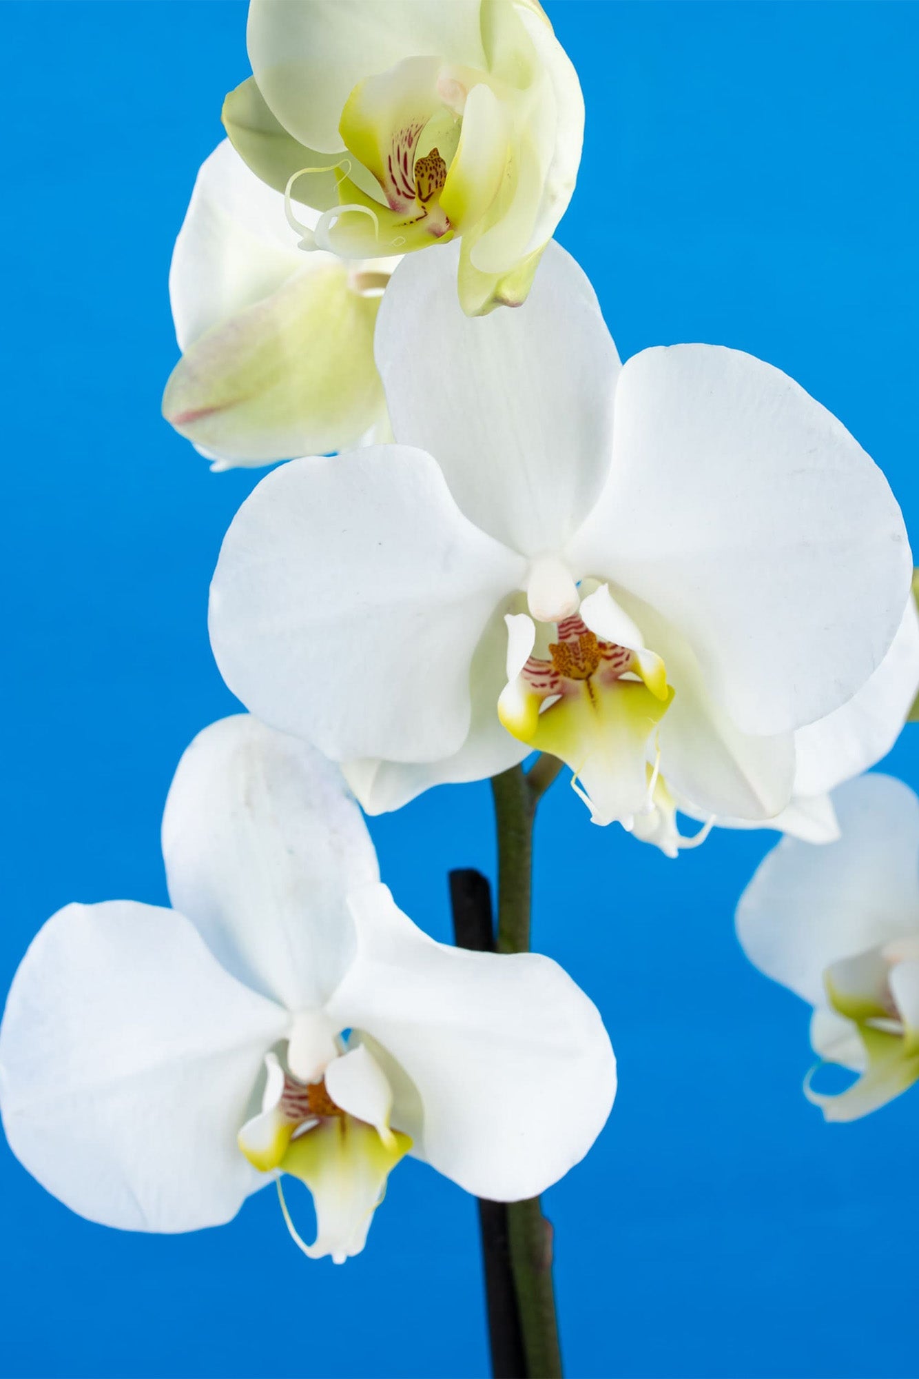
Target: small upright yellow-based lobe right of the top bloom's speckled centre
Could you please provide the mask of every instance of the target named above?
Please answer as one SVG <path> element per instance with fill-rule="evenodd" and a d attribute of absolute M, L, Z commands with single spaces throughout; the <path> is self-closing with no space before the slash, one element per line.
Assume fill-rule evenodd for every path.
<path fill-rule="evenodd" d="M 479 81 L 466 101 L 463 127 L 441 205 L 451 225 L 464 233 L 497 196 L 510 156 L 507 114 L 489 85 Z"/>

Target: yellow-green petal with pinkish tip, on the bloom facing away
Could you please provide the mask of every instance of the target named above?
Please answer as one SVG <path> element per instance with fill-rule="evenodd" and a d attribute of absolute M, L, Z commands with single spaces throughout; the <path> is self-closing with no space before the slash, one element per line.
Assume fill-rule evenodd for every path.
<path fill-rule="evenodd" d="M 350 290 L 344 265 L 306 256 L 271 296 L 196 341 L 167 383 L 164 416 L 229 463 L 355 445 L 384 414 L 378 308 Z"/>

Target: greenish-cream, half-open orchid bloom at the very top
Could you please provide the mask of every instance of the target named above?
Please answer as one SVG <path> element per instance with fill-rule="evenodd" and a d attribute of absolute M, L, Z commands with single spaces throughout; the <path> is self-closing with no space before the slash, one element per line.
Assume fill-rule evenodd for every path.
<path fill-rule="evenodd" d="M 223 123 L 269 186 L 320 212 L 304 247 L 376 258 L 462 237 L 463 309 L 524 301 L 584 132 L 537 0 L 251 0 L 248 50 Z"/>

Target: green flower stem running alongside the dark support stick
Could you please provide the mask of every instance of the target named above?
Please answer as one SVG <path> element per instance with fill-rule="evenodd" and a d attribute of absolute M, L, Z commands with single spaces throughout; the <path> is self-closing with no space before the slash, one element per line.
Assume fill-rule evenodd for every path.
<path fill-rule="evenodd" d="M 499 953 L 529 952 L 533 821 L 541 794 L 559 769 L 561 763 L 553 757 L 540 757 L 529 775 L 514 767 L 492 778 L 497 826 Z M 543 1216 L 539 1197 L 508 1202 L 507 1226 L 526 1357 L 525 1379 L 561 1379 L 553 1227 Z"/>

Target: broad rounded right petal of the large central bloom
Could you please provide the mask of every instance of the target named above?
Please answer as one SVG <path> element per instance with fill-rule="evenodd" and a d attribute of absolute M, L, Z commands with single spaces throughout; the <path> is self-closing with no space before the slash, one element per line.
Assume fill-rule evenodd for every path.
<path fill-rule="evenodd" d="M 842 423 L 777 368 L 710 345 L 628 360 L 609 481 L 568 556 L 679 629 L 756 734 L 865 683 L 912 576 L 887 481 Z"/>

